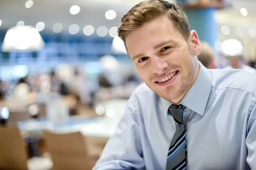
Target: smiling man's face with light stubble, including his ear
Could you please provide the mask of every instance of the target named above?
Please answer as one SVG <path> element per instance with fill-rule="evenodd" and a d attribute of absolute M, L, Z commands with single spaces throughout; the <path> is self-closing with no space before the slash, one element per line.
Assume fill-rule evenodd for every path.
<path fill-rule="evenodd" d="M 192 31 L 185 40 L 166 16 L 158 17 L 126 37 L 128 54 L 147 86 L 166 100 L 188 89 L 201 47 Z"/>

